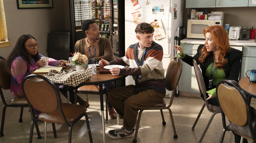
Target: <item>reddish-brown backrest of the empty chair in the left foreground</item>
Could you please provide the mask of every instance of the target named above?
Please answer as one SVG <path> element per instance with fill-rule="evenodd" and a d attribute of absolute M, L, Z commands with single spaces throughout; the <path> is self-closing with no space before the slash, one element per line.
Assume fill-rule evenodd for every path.
<path fill-rule="evenodd" d="M 43 79 L 28 78 L 23 83 L 24 95 L 37 110 L 51 113 L 58 108 L 54 86 Z"/>

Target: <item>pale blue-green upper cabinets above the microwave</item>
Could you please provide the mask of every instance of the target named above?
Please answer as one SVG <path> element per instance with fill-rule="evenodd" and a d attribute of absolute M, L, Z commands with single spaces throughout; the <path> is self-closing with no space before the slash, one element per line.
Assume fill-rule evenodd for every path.
<path fill-rule="evenodd" d="M 186 8 L 248 7 L 255 0 L 186 0 Z"/>

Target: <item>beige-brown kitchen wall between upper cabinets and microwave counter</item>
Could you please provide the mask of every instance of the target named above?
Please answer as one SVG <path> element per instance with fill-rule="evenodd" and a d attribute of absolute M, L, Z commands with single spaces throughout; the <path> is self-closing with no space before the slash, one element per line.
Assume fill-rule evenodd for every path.
<path fill-rule="evenodd" d="M 189 9 L 189 10 L 188 10 Z M 234 8 L 197 8 L 197 11 L 203 11 L 208 9 L 210 11 L 223 11 L 224 14 L 224 24 L 229 24 L 230 26 L 242 26 L 242 27 L 254 27 L 256 28 L 256 7 L 234 7 Z M 187 27 L 187 14 L 191 15 L 191 8 L 186 8 L 186 3 L 184 3 L 184 17 L 183 24 Z M 187 29 L 187 28 L 185 28 Z"/>

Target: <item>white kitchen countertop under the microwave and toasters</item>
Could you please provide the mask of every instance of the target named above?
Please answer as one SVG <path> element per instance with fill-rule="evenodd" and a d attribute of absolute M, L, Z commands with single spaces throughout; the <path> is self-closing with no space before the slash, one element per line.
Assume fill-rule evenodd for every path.
<path fill-rule="evenodd" d="M 185 38 L 181 40 L 181 43 L 185 44 L 204 44 L 205 39 L 192 39 L 192 38 Z M 231 46 L 256 46 L 255 39 L 250 40 L 229 40 L 229 44 Z"/>

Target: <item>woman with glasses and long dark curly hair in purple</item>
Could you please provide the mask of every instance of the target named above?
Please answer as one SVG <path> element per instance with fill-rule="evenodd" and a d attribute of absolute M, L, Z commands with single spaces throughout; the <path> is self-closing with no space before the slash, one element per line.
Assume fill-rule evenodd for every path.
<path fill-rule="evenodd" d="M 14 48 L 7 58 L 8 67 L 11 69 L 11 94 L 15 98 L 24 97 L 22 82 L 24 78 L 46 63 L 40 60 L 42 55 L 38 53 L 39 44 L 33 36 L 22 35 L 16 41 Z M 60 66 L 65 60 L 55 60 L 49 58 L 49 65 Z M 64 65 L 62 65 L 64 66 Z"/>

